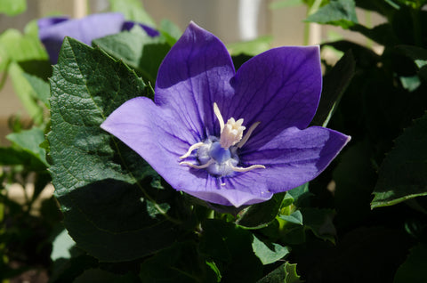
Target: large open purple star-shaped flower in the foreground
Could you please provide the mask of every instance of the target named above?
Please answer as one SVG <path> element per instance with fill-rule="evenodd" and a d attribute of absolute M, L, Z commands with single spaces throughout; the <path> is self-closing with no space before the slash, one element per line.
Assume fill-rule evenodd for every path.
<path fill-rule="evenodd" d="M 224 44 L 190 23 L 158 70 L 154 102 L 126 101 L 101 127 L 175 190 L 251 205 L 309 182 L 350 141 L 306 128 L 321 84 L 318 46 L 271 49 L 235 72 Z"/>

